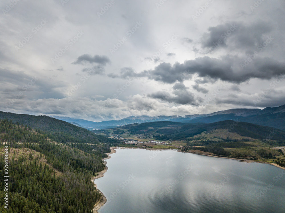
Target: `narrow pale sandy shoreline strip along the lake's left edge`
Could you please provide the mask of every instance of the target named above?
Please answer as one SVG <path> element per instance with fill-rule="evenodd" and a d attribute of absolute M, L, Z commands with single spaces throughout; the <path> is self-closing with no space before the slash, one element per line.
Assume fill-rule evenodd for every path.
<path fill-rule="evenodd" d="M 97 188 L 97 184 L 94 183 L 95 179 L 98 179 L 100 177 L 104 177 L 104 173 L 108 170 L 108 167 L 106 166 L 107 164 L 107 159 L 111 158 L 110 154 L 113 154 L 116 152 L 116 149 L 118 149 L 118 147 L 111 147 L 110 150 L 111 152 L 106 153 L 107 154 L 107 158 L 103 158 L 102 160 L 104 161 L 104 165 L 105 165 L 105 169 L 103 171 L 100 171 L 98 173 L 97 176 L 95 177 L 91 177 L 91 181 L 93 182 L 94 186 L 96 187 L 96 189 L 99 191 L 99 193 L 101 193 L 102 198 L 100 200 L 98 200 L 93 207 L 93 213 L 98 213 L 98 210 L 107 202 L 107 198 L 105 197 L 105 195 Z"/>

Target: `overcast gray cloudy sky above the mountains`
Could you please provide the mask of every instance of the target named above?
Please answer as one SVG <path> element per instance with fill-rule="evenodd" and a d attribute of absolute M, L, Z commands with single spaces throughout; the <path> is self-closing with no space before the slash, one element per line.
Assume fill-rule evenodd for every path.
<path fill-rule="evenodd" d="M 1 111 L 103 121 L 285 104 L 284 0 L 0 9 Z"/>

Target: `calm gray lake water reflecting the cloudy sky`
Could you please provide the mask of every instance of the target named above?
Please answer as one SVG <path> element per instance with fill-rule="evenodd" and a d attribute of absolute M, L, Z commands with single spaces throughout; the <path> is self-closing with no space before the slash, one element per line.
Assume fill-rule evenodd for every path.
<path fill-rule="evenodd" d="M 285 170 L 176 150 L 117 149 L 99 213 L 285 212 Z"/>

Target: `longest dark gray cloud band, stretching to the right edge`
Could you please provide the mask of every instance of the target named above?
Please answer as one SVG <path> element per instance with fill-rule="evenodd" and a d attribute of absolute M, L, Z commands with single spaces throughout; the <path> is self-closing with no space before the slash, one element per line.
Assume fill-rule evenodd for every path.
<path fill-rule="evenodd" d="M 155 81 L 168 84 L 176 81 L 191 79 L 194 74 L 199 77 L 208 77 L 215 80 L 241 83 L 252 78 L 271 79 L 284 73 L 285 63 L 279 62 L 268 57 L 258 57 L 244 69 L 241 66 L 244 61 L 242 58 L 225 56 L 222 59 L 211 58 L 208 56 L 188 60 L 184 63 L 160 63 L 152 70 L 135 73 L 133 69 L 121 72 L 117 77 L 147 77 Z"/>

